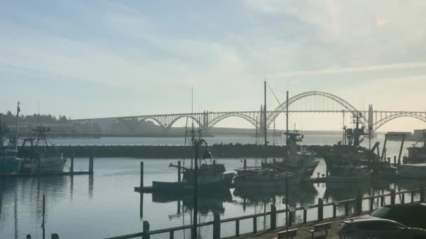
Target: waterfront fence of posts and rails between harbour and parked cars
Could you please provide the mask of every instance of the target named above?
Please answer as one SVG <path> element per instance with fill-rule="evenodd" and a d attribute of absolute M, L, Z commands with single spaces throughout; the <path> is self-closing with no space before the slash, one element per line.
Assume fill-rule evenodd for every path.
<path fill-rule="evenodd" d="M 399 201 L 397 201 L 397 196 Z M 308 223 L 308 210 L 316 210 L 316 219 L 310 222 L 321 222 L 324 220 L 324 208 L 331 207 L 332 214 L 328 219 L 335 219 L 339 216 L 360 215 L 362 212 L 373 211 L 383 205 L 393 205 L 398 203 L 416 203 L 425 202 L 425 187 L 420 189 L 407 191 L 391 190 L 388 194 L 378 194 L 374 196 L 357 196 L 343 201 L 334 201 L 324 203 L 322 198 L 318 198 L 315 205 L 303 206 L 288 209 L 288 226 L 298 226 Z M 368 205 L 368 208 L 366 208 Z M 269 212 L 263 212 L 255 215 L 245 215 L 242 217 L 232 217 L 220 219 L 219 213 L 214 212 L 214 219 L 210 222 L 202 222 L 198 224 L 198 235 L 202 231 L 202 238 L 233 238 L 237 236 L 247 235 L 249 233 L 258 233 L 261 231 L 273 231 L 277 227 L 287 226 L 286 212 L 284 210 L 276 210 L 275 205 L 271 205 Z M 339 213 L 338 213 L 339 212 Z M 298 216 L 298 217 L 297 217 Z M 298 218 L 298 220 L 296 219 Z M 149 222 L 143 222 L 143 231 L 123 236 L 116 236 L 107 239 L 127 239 L 140 238 L 143 239 L 174 239 L 174 238 L 191 238 L 191 225 L 176 226 L 168 229 L 158 229 L 150 231 Z"/>

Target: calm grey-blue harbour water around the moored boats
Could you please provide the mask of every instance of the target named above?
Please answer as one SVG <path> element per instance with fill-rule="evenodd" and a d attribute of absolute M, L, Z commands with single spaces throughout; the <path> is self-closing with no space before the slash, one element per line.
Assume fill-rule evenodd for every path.
<path fill-rule="evenodd" d="M 341 136 L 308 135 L 303 144 L 333 144 Z M 145 141 L 146 140 L 146 141 Z M 209 143 L 254 143 L 254 138 L 207 138 Z M 381 138 L 379 138 L 381 140 Z M 58 140 L 57 140 L 58 141 Z M 66 141 L 66 140 L 64 140 Z M 75 144 L 137 144 L 137 145 L 179 145 L 181 138 L 109 138 L 82 140 Z M 272 143 L 272 140 L 270 140 Z M 95 143 L 94 143 L 95 142 Z M 57 143 L 57 142 L 56 142 Z M 64 145 L 74 144 L 69 140 Z M 282 144 L 282 140 L 280 140 Z M 399 143 L 387 143 L 387 155 L 397 155 Z M 227 171 L 242 166 L 241 159 L 218 159 L 226 164 Z M 249 165 L 259 163 L 256 159 L 247 159 Z M 147 220 L 151 229 L 191 224 L 191 197 L 166 198 L 161 195 L 144 194 L 133 191 L 139 184 L 139 162 L 130 158 L 95 158 L 95 174 L 63 176 L 55 178 L 13 178 L 0 179 L 0 238 L 25 238 L 31 233 L 33 238 L 41 238 L 41 219 L 43 194 L 46 195 L 46 235 L 58 233 L 61 238 L 105 238 L 142 231 L 142 221 Z M 152 180 L 175 181 L 177 171 L 169 168 L 170 159 L 144 159 L 146 185 Z M 185 162 L 188 164 L 188 161 Z M 88 159 L 75 160 L 76 170 L 87 170 Z M 324 173 L 324 162 L 316 169 Z M 327 201 L 352 198 L 357 191 L 371 194 L 371 191 L 389 191 L 392 188 L 413 189 L 423 182 L 373 182 L 364 185 L 309 184 L 291 188 L 289 201 L 291 206 L 315 204 L 317 198 Z M 221 218 L 238 217 L 269 210 L 275 203 L 277 209 L 284 209 L 283 192 L 234 191 L 229 194 L 200 196 L 198 210 L 200 222 L 212 220 L 212 211 L 219 211 Z M 179 200 L 178 200 L 179 199 Z M 315 218 L 315 210 L 308 211 L 308 217 Z M 325 216 L 331 215 L 330 210 Z M 300 215 L 298 218 L 300 219 Z M 278 219 L 278 222 L 283 220 Z M 265 222 L 266 223 L 266 222 Z M 258 224 L 259 225 L 259 224 Z M 261 226 L 261 224 L 260 224 Z M 242 225 L 241 231 L 249 227 Z M 260 228 L 260 227 L 259 227 Z M 209 231 L 201 231 L 209 238 Z M 233 229 L 222 229 L 223 236 L 231 235 Z M 179 235 L 180 236 L 189 236 Z M 177 236 L 178 237 L 178 236 Z M 163 238 L 163 237 L 161 237 Z"/>

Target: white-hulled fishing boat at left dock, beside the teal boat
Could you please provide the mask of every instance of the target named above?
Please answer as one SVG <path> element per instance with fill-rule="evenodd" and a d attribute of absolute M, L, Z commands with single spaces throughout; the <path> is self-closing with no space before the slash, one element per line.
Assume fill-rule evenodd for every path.
<path fill-rule="evenodd" d="M 23 139 L 22 153 L 29 157 L 24 158 L 21 171 L 24 173 L 64 171 L 67 159 L 64 159 L 63 154 L 58 152 L 46 137 L 46 132 L 50 129 L 40 125 L 32 130 L 37 133 L 37 137 Z"/>

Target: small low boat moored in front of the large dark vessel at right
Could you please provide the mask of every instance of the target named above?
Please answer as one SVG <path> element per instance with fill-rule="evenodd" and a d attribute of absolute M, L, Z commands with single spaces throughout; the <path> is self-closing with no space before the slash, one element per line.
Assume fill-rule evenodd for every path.
<path fill-rule="evenodd" d="M 366 166 L 333 166 L 334 174 L 326 182 L 362 182 L 369 181 L 373 170 Z"/>

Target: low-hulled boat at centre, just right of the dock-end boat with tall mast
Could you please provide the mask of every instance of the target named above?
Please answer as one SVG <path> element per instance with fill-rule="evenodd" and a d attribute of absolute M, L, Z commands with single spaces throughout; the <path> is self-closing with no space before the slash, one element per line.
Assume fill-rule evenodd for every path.
<path fill-rule="evenodd" d="M 280 172 L 270 168 L 239 168 L 235 175 L 235 188 L 285 188 L 287 184 L 300 184 L 303 178 L 303 170 L 296 173 Z"/>

